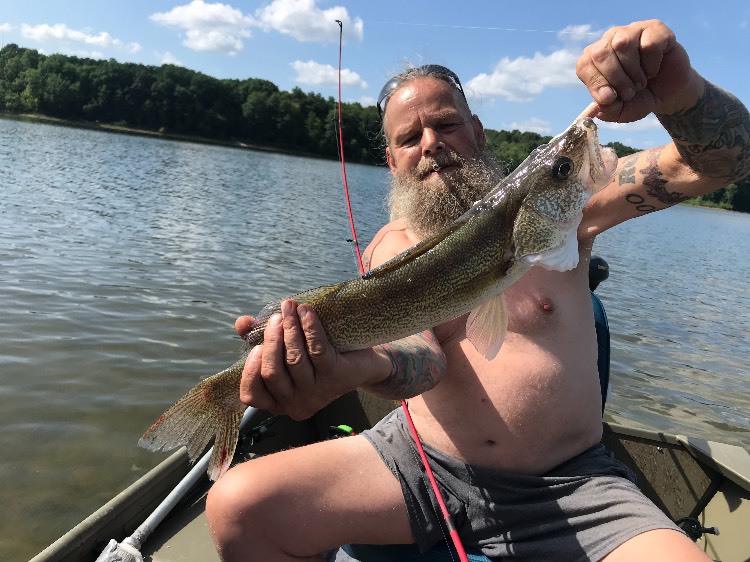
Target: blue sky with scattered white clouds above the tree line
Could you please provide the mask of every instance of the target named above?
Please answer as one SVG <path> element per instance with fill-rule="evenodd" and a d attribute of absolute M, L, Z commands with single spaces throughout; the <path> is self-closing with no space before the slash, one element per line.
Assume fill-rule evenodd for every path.
<path fill-rule="evenodd" d="M 485 127 L 564 130 L 590 98 L 575 76 L 583 48 L 609 27 L 657 18 L 705 78 L 750 105 L 747 0 L 0 0 L 2 44 L 43 54 L 181 65 L 217 78 L 374 105 L 406 65 L 459 75 Z M 346 122 L 346 115 L 344 115 Z M 602 142 L 669 141 L 653 116 L 600 123 Z"/>

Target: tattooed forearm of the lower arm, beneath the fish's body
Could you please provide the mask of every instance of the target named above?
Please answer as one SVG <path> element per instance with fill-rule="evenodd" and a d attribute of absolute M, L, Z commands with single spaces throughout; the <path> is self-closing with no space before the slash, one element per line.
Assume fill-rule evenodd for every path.
<path fill-rule="evenodd" d="M 382 398 L 402 399 L 431 389 L 443 377 L 445 354 L 431 331 L 380 346 L 391 360 L 391 374 L 365 387 Z"/>

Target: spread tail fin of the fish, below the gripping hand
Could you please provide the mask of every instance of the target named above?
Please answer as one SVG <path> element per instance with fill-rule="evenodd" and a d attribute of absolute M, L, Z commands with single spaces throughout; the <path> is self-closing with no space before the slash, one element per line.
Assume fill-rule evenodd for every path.
<path fill-rule="evenodd" d="M 138 446 L 170 451 L 184 445 L 190 462 L 195 462 L 213 438 L 208 475 L 217 480 L 229 468 L 237 447 L 245 411 L 239 399 L 243 364 L 244 361 L 235 363 L 188 391 L 143 434 Z"/>

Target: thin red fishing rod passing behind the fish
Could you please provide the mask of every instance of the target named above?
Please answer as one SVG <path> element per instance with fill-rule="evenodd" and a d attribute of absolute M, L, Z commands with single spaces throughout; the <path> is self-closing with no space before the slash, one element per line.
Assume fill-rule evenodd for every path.
<path fill-rule="evenodd" d="M 352 213 L 352 205 L 349 201 L 349 184 L 346 181 L 346 164 L 344 159 L 344 133 L 343 133 L 343 123 L 341 120 L 341 50 L 342 50 L 342 43 L 343 43 L 343 35 L 344 35 L 344 24 L 341 22 L 341 20 L 336 20 L 336 23 L 339 24 L 339 74 L 338 74 L 338 83 L 339 83 L 339 97 L 338 97 L 338 147 L 339 147 L 339 160 L 341 160 L 341 177 L 344 182 L 344 197 L 346 198 L 346 208 L 349 213 L 349 225 L 352 230 L 352 242 L 354 243 L 354 250 L 357 253 L 357 261 L 359 262 L 359 273 L 360 275 L 364 274 L 365 268 L 362 263 L 362 255 L 359 251 L 359 242 L 357 241 L 357 231 L 354 228 L 354 215 Z M 417 447 L 417 451 L 419 452 L 419 457 L 422 459 L 422 465 L 425 468 L 425 473 L 427 474 L 427 478 L 430 481 L 430 485 L 432 486 L 432 491 L 435 494 L 435 499 L 438 502 L 438 505 L 440 506 L 440 511 L 443 514 L 443 521 L 445 521 L 445 526 L 448 529 L 448 533 L 451 536 L 451 539 L 453 541 L 453 547 L 456 549 L 456 553 L 458 554 L 458 558 L 461 562 L 469 562 L 469 557 L 466 555 L 466 550 L 464 549 L 464 545 L 461 542 L 461 537 L 458 535 L 458 529 L 456 529 L 456 524 L 453 521 L 453 517 L 451 516 L 450 512 L 448 511 L 448 507 L 445 505 L 445 500 L 443 499 L 443 494 L 440 491 L 440 487 L 438 486 L 437 481 L 435 480 L 435 476 L 432 473 L 432 469 L 430 468 L 430 462 L 427 459 L 427 455 L 424 452 L 424 447 L 422 447 L 422 441 L 419 439 L 419 433 L 417 432 L 417 427 L 414 425 L 414 421 L 411 419 L 411 414 L 409 413 L 409 405 L 407 404 L 406 400 L 401 401 L 401 407 L 404 410 L 404 415 L 406 416 L 406 421 L 409 425 L 409 429 L 411 430 L 412 437 L 414 438 L 414 444 Z"/>

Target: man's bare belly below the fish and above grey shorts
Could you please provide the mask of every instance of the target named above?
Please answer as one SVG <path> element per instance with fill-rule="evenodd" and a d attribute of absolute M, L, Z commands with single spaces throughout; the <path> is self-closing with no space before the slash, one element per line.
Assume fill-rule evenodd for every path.
<path fill-rule="evenodd" d="M 469 464 L 543 474 L 600 441 L 595 357 L 507 342 L 487 362 L 459 345 L 450 374 L 409 401 L 424 443 Z"/>

